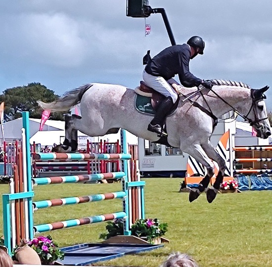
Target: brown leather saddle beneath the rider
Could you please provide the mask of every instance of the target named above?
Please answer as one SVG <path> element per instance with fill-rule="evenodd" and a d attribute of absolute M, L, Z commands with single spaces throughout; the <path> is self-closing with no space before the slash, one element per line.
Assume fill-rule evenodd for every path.
<path fill-rule="evenodd" d="M 157 92 L 153 88 L 146 85 L 146 83 L 143 80 L 140 81 L 140 86 L 137 86 L 135 88 L 135 93 L 137 95 L 141 95 L 141 96 L 151 98 L 151 106 L 152 106 L 154 111 L 156 111 L 159 103 L 165 98 L 164 95 L 160 94 L 159 92 Z M 172 114 L 177 109 L 178 105 L 179 105 L 179 98 L 176 101 L 173 109 L 170 111 L 169 114 Z"/>

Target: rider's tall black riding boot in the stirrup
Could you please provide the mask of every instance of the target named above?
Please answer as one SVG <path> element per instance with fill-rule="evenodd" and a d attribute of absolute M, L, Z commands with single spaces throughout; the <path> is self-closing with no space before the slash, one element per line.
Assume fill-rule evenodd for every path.
<path fill-rule="evenodd" d="M 150 132 L 157 133 L 159 135 L 167 136 L 167 133 L 163 131 L 163 125 L 166 116 L 173 108 L 174 103 L 172 97 L 168 96 L 159 104 L 156 114 L 151 122 L 148 124 L 147 130 Z"/>

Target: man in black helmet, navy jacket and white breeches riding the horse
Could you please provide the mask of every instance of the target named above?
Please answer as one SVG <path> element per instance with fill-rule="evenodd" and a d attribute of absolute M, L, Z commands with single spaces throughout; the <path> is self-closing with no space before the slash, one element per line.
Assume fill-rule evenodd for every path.
<path fill-rule="evenodd" d="M 190 59 L 197 54 L 203 55 L 204 47 L 205 43 L 202 38 L 193 36 L 188 39 L 187 44 L 167 47 L 148 61 L 142 74 L 143 80 L 148 86 L 165 96 L 157 108 L 155 117 L 148 125 L 148 131 L 167 136 L 162 128 L 166 116 L 178 99 L 177 92 L 169 83 L 176 74 L 179 75 L 180 82 L 185 87 L 202 84 L 208 89 L 212 88 L 211 81 L 201 80 L 189 72 Z"/>

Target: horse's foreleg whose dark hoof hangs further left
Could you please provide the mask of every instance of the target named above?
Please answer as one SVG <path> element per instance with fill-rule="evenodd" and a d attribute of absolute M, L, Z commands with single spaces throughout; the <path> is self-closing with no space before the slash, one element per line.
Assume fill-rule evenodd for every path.
<path fill-rule="evenodd" d="M 198 198 L 198 196 L 208 188 L 210 179 L 214 175 L 214 164 L 211 161 L 211 159 L 207 156 L 203 148 L 198 144 L 188 148 L 185 152 L 193 156 L 197 161 L 202 163 L 207 169 L 207 175 L 199 183 L 198 188 L 192 189 L 189 193 L 189 201 L 192 202 L 193 200 Z"/>

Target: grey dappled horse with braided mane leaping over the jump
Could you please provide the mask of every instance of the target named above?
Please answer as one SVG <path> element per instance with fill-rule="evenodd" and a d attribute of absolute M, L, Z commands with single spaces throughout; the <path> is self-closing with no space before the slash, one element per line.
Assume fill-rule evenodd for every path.
<path fill-rule="evenodd" d="M 207 200 L 212 202 L 223 182 L 226 163 L 210 142 L 218 117 L 229 111 L 236 111 L 250 122 L 258 137 L 266 139 L 271 135 L 264 102 L 264 92 L 269 89 L 268 86 L 250 89 L 241 82 L 213 80 L 213 83 L 215 85 L 212 90 L 205 88 L 184 102 L 181 99 L 197 88 L 182 88 L 183 96 L 178 108 L 166 119 L 168 144 L 188 153 L 207 169 L 198 188 L 190 192 L 190 201 L 206 190 Z M 122 85 L 90 83 L 67 92 L 55 102 L 38 103 L 42 109 L 51 112 L 69 111 L 80 103 L 82 117 L 66 117 L 65 141 L 59 152 L 69 153 L 77 149 L 77 130 L 89 136 L 103 136 L 123 128 L 140 138 L 158 141 L 156 133 L 147 131 L 150 115 L 136 111 L 135 97 L 133 89 Z M 211 159 L 218 163 L 220 171 L 213 187 L 208 189 L 210 178 L 214 175 Z"/>

